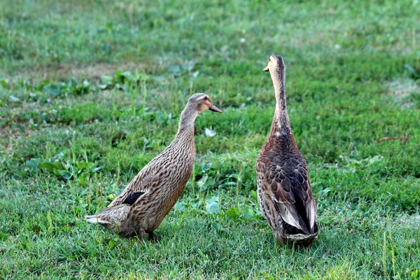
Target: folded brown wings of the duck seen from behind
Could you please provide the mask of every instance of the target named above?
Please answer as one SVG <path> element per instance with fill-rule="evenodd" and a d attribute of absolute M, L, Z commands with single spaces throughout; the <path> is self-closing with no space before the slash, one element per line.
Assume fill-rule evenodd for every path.
<path fill-rule="evenodd" d="M 266 165 L 258 162 L 256 171 L 262 192 L 261 203 L 265 205 L 267 214 L 280 215 L 283 221 L 298 230 L 295 233 L 313 233 L 316 204 L 306 166 L 298 164 L 296 168 L 290 169 L 274 163 Z M 278 221 L 278 218 L 273 218 Z M 270 225 L 274 221 L 269 222 Z"/>

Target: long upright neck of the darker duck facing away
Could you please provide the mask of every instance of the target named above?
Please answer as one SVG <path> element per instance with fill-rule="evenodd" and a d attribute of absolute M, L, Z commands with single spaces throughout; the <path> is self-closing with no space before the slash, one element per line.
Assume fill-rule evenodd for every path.
<path fill-rule="evenodd" d="M 274 92 L 276 94 L 276 111 L 272 123 L 272 132 L 279 132 L 283 135 L 290 134 L 290 120 L 288 118 L 286 106 L 286 92 L 284 90 L 284 73 L 283 75 L 274 73 L 272 75 Z"/>

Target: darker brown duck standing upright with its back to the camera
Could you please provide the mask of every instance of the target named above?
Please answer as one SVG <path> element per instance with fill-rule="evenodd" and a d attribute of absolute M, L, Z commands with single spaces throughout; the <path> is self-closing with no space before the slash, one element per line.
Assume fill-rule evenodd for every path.
<path fill-rule="evenodd" d="M 316 202 L 306 161 L 293 137 L 287 113 L 283 57 L 272 55 L 263 69 L 274 85 L 272 127 L 255 164 L 258 202 L 277 245 L 309 246 L 318 237 Z"/>

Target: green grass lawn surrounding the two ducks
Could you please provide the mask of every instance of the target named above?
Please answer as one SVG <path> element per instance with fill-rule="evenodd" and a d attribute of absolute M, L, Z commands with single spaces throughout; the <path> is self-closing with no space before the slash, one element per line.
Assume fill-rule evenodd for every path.
<path fill-rule="evenodd" d="M 151 2 L 0 3 L 0 278 L 420 279 L 419 1 Z M 255 195 L 272 54 L 318 203 L 297 251 Z M 224 113 L 197 118 L 157 241 L 83 221 L 172 141 L 194 92 Z"/>

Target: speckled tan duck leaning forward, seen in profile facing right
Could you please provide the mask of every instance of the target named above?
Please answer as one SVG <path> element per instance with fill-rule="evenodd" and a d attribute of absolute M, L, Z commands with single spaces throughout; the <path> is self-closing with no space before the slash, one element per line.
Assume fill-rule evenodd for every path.
<path fill-rule="evenodd" d="M 85 216 L 85 220 L 103 225 L 120 237 L 153 238 L 153 230 L 174 207 L 193 173 L 194 123 L 206 110 L 222 113 L 207 94 L 193 94 L 181 112 L 171 144 L 148 162 L 108 207 Z"/>

